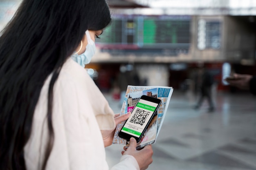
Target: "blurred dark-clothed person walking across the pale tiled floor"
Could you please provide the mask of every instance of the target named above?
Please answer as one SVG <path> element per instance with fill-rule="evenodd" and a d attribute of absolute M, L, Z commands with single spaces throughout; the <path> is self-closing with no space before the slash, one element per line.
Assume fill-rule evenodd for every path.
<path fill-rule="evenodd" d="M 198 103 L 195 105 L 195 109 L 200 108 L 204 98 L 207 98 L 209 103 L 209 112 L 213 112 L 214 105 L 211 95 L 211 87 L 213 85 L 213 76 L 209 73 L 207 68 L 204 65 L 198 68 L 198 71 L 195 74 L 195 88 L 199 93 Z"/>

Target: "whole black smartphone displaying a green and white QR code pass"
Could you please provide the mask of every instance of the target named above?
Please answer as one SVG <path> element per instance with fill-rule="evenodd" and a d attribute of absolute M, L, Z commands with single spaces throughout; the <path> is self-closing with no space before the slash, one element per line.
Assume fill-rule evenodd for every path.
<path fill-rule="evenodd" d="M 139 142 L 153 116 L 157 113 L 161 102 L 160 99 L 142 95 L 121 128 L 119 137 L 128 141 L 134 137 Z"/>

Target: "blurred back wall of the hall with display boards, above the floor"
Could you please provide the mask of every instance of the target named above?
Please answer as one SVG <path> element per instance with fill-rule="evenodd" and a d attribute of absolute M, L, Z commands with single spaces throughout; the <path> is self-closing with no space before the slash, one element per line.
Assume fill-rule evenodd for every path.
<path fill-rule="evenodd" d="M 222 77 L 256 74 L 255 0 L 107 0 L 112 24 L 86 65 L 102 91 L 118 86 L 120 68 L 139 79 L 134 85 L 193 89 L 193 72 L 204 64 L 218 91 Z M 0 1 L 0 29 L 20 0 Z M 124 70 L 123 70 L 124 71 Z"/>

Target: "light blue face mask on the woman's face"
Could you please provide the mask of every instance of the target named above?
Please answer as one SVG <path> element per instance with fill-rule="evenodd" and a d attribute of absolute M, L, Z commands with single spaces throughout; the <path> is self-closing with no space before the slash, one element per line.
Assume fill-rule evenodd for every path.
<path fill-rule="evenodd" d="M 85 52 L 80 55 L 78 55 L 77 52 L 71 55 L 71 58 L 82 67 L 85 67 L 85 64 L 90 63 L 96 51 L 95 42 L 91 39 L 89 31 L 86 30 L 85 34 L 88 42 Z"/>

